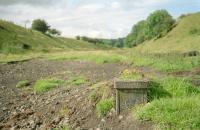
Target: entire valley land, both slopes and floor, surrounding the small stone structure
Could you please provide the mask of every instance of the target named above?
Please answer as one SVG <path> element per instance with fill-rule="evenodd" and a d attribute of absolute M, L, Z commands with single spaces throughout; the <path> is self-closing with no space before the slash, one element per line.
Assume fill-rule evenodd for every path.
<path fill-rule="evenodd" d="M 0 21 L 0 129 L 200 129 L 197 17 L 122 49 Z M 117 116 L 114 78 L 151 80 L 149 102 Z"/>

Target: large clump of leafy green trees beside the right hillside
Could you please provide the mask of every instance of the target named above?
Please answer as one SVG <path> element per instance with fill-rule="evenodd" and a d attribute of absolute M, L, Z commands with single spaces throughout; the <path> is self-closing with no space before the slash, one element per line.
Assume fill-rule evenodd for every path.
<path fill-rule="evenodd" d="M 135 24 L 131 33 L 126 37 L 128 47 L 136 46 L 145 40 L 160 38 L 166 35 L 175 24 L 175 20 L 166 10 L 157 10 L 150 14 L 146 20 Z"/>

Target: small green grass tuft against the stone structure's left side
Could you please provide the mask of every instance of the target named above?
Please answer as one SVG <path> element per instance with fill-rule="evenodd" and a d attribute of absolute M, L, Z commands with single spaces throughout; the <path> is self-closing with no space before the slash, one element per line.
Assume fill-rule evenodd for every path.
<path fill-rule="evenodd" d="M 107 113 L 114 107 L 113 98 L 104 99 L 97 103 L 96 109 L 99 116 L 106 116 Z"/>

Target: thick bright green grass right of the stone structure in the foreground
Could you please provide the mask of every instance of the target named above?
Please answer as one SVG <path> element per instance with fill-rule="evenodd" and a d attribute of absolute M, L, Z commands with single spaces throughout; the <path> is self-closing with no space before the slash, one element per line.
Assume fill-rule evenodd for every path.
<path fill-rule="evenodd" d="M 157 79 L 151 85 L 150 103 L 140 107 L 137 116 L 159 124 L 161 129 L 200 129 L 199 93 L 187 79 Z"/>

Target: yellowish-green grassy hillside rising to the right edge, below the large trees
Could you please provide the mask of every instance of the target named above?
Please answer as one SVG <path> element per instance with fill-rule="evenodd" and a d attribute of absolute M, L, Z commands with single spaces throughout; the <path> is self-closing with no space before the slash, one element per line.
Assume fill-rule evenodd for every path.
<path fill-rule="evenodd" d="M 146 41 L 135 50 L 149 53 L 200 51 L 200 13 L 182 17 L 166 36 Z"/>

